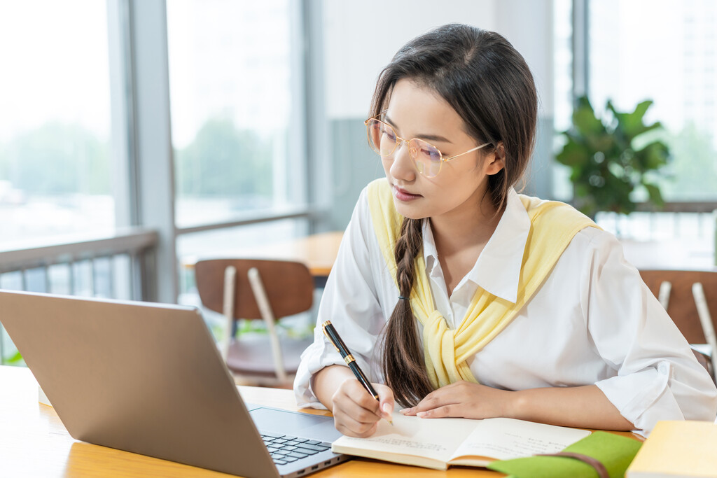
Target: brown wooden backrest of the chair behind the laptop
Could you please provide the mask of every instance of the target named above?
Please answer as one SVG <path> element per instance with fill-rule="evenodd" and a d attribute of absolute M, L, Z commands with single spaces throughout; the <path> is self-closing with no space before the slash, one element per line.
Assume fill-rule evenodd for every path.
<path fill-rule="evenodd" d="M 237 269 L 234 287 L 234 320 L 262 319 L 247 272 L 256 267 L 277 319 L 305 312 L 313 304 L 314 282 L 301 262 L 265 259 L 206 259 L 194 265 L 194 278 L 204 307 L 224 312 L 224 272 Z"/>

